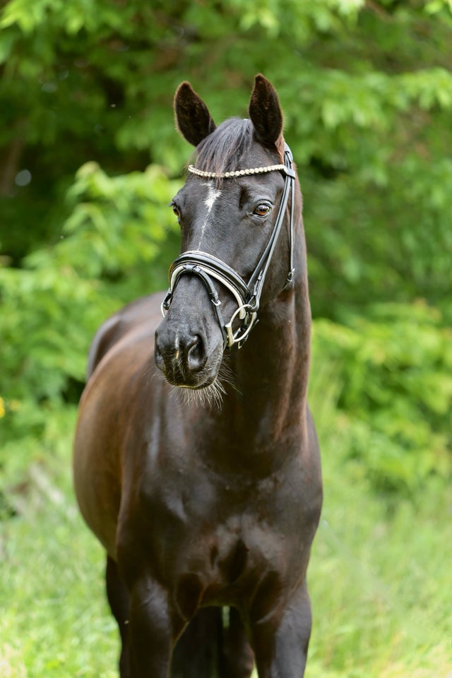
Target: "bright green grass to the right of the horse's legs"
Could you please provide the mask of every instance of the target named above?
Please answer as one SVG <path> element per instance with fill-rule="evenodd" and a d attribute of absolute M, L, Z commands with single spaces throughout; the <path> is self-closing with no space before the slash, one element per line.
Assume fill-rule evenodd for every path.
<path fill-rule="evenodd" d="M 307 677 L 451 678 L 451 494 L 432 484 L 418 508 L 388 511 L 338 463 L 324 467 Z"/>

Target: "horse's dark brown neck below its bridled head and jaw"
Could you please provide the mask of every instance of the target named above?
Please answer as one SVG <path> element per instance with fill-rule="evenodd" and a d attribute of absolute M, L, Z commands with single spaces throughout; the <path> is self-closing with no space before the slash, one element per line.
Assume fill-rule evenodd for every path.
<path fill-rule="evenodd" d="M 227 360 L 232 386 L 210 420 L 215 463 L 225 469 L 265 475 L 279 463 L 281 446 L 299 445 L 305 430 L 311 309 L 301 255 L 295 265 L 294 287 L 261 308 L 249 340 Z"/>

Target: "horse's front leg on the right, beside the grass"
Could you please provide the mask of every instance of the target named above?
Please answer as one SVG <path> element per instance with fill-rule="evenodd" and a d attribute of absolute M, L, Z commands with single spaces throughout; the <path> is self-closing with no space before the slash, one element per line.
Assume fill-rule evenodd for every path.
<path fill-rule="evenodd" d="M 278 622 L 257 619 L 251 626 L 259 678 L 302 678 L 311 635 L 311 603 L 306 581 L 288 601 Z"/>

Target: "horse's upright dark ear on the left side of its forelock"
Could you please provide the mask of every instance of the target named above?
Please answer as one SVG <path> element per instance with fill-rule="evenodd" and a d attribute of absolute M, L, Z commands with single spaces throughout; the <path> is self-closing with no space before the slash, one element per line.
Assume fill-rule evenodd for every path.
<path fill-rule="evenodd" d="M 174 95 L 174 114 L 177 129 L 194 146 L 201 143 L 216 127 L 208 107 L 190 83 L 181 83 L 177 88 Z"/>

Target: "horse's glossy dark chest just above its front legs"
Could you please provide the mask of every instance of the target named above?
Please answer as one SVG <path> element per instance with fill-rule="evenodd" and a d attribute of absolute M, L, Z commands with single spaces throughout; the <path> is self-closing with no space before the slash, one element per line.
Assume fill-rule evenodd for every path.
<path fill-rule="evenodd" d="M 293 480 L 293 479 L 292 479 Z M 229 483 L 201 469 L 166 469 L 141 492 L 149 566 L 189 617 L 191 606 L 232 604 L 268 573 L 293 570 L 302 549 L 300 506 L 280 477 Z"/>

